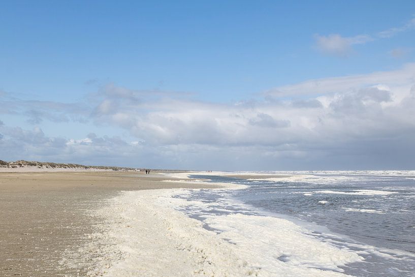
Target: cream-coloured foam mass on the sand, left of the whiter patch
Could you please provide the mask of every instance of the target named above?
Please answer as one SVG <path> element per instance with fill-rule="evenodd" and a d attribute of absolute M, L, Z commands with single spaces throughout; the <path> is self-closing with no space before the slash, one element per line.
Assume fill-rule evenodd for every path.
<path fill-rule="evenodd" d="M 178 191 L 122 192 L 111 205 L 98 210 L 96 216 L 105 219 L 103 230 L 79 251 L 98 257 L 92 259 L 87 275 L 255 275 L 257 269 L 238 257 L 233 244 L 170 207 L 184 201 L 171 198 Z M 78 262 L 79 257 L 66 264 L 76 266 Z"/>

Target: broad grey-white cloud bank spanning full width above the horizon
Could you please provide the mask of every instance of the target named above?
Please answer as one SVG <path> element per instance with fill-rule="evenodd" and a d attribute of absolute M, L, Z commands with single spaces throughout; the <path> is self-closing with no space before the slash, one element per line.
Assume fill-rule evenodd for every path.
<path fill-rule="evenodd" d="M 415 157 L 415 64 L 310 80 L 218 104 L 108 84 L 79 103 L 0 97 L 3 160 L 206 170 L 408 169 Z M 49 137 L 42 122 L 119 134 Z M 122 134 L 127 134 L 123 136 Z"/>

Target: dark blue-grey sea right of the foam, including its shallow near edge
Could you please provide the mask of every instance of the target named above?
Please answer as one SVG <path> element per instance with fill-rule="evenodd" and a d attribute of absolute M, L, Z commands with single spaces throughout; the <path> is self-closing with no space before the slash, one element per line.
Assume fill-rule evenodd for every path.
<path fill-rule="evenodd" d="M 191 177 L 245 184 L 248 186 L 246 189 L 227 191 L 226 194 L 276 216 L 282 214 L 315 223 L 327 227 L 333 234 L 340 234 L 329 236 L 314 232 L 313 235 L 339 247 L 347 245 L 348 249 L 365 257 L 365 263 L 344 268 L 346 273 L 356 276 L 415 276 L 414 176 L 385 176 L 369 172 L 313 174 L 306 178 L 280 180 Z M 224 195 L 220 192 L 217 195 L 203 193 L 199 193 L 197 198 L 223 201 Z M 367 245 L 375 248 L 378 254 L 392 253 L 394 258 L 368 254 Z"/>

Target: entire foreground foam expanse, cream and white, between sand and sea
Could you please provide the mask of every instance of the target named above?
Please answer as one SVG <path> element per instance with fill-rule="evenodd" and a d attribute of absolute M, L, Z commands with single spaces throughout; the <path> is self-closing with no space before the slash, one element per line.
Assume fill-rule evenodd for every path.
<path fill-rule="evenodd" d="M 122 192 L 96 211 L 105 219 L 102 231 L 79 250 L 95 254 L 88 275 L 341 277 L 346 274 L 339 266 L 362 260 L 285 219 L 208 216 L 205 223 L 220 232 L 206 230 L 202 222 L 175 210 L 204 203 L 172 198 L 180 193 L 188 191 Z"/>

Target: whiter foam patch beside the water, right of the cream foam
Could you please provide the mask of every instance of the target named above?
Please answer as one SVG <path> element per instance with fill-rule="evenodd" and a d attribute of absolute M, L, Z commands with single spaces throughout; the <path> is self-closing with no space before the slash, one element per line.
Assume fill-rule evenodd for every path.
<path fill-rule="evenodd" d="M 210 217 L 205 223 L 221 230 L 219 237 L 235 243 L 241 257 L 269 276 L 341 276 L 339 266 L 362 260 L 356 253 L 305 235 L 285 219 L 236 213 Z"/>

